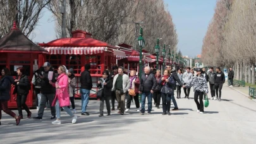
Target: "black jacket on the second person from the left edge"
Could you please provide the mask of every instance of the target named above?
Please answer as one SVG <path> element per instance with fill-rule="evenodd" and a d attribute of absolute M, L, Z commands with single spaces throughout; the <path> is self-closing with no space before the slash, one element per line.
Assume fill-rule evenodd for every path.
<path fill-rule="evenodd" d="M 18 76 L 16 76 L 15 80 L 18 80 Z M 28 76 L 20 76 L 20 80 L 18 82 L 15 82 L 15 89 L 13 90 L 13 94 L 18 93 L 19 95 L 28 95 L 29 90 L 30 81 L 28 81 Z"/>

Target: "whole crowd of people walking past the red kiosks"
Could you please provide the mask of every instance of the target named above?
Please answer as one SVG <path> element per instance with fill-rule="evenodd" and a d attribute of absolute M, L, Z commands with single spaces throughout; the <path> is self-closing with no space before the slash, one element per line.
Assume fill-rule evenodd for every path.
<path fill-rule="evenodd" d="M 193 70 L 188 67 L 176 71 L 175 67 L 166 66 L 163 75 L 161 75 L 161 70 L 154 69 L 153 66 L 145 66 L 142 78 L 140 79 L 135 70 L 131 70 L 126 75 L 124 68 L 121 66 L 113 66 L 112 71 L 106 69 L 102 73 L 102 78 L 97 81 L 97 87 L 102 91 L 101 95 L 97 94 L 100 100 L 99 117 L 104 116 L 104 102 L 106 102 L 107 107 L 106 116 L 111 116 L 111 111 L 115 111 L 115 101 L 118 102 L 118 113 L 124 115 L 125 112 L 130 111 L 132 100 L 135 101 L 137 111 L 141 115 L 146 114 L 146 112 L 151 114 L 152 100 L 154 100 L 154 105 L 157 109 L 160 109 L 162 101 L 162 115 L 171 115 L 171 101 L 174 105 L 172 111 L 178 111 L 176 99 L 181 99 L 181 88 L 184 91 L 184 98 L 190 99 L 191 87 L 193 87 L 197 112 L 204 114 L 203 99 L 205 99 L 205 95 L 209 91 L 207 83 L 209 82 L 211 99 L 221 101 L 221 90 L 225 82 L 225 76 L 219 67 L 216 68 L 216 72 L 214 72 L 214 68 L 210 68 L 208 72 L 205 71 L 205 68 L 195 68 L 195 73 Z M 90 90 L 92 89 L 90 64 L 85 64 L 85 71 L 81 73 L 80 83 L 81 115 L 89 116 L 87 105 L 90 98 Z M 38 113 L 33 119 L 42 119 L 46 104 L 49 102 L 49 105 L 51 105 L 51 119 L 54 120 L 52 124 L 61 124 L 61 109 L 70 115 L 71 123 L 76 123 L 77 116 L 74 102 L 76 78 L 72 68 L 67 69 L 65 66 L 59 66 L 58 73 L 54 73 L 51 64 L 46 62 L 42 68 L 35 71 L 32 84 L 34 85 L 35 95 L 38 98 L 36 102 Z M 8 109 L 11 85 L 15 85 L 14 93 L 17 94 L 18 116 Z M 28 118 L 32 116 L 32 112 L 30 112 L 25 104 L 30 87 L 30 81 L 28 81 L 28 77 L 25 75 L 24 68 L 20 67 L 17 69 L 15 80 L 10 76 L 8 68 L 2 69 L 0 109 L 3 109 L 9 116 L 14 117 L 16 125 L 23 119 L 22 107 L 27 112 Z M 176 90 L 176 99 L 174 97 L 174 90 Z M 139 94 L 142 96 L 141 103 L 139 102 Z M 146 98 L 147 109 L 145 109 Z M 72 111 L 70 109 L 70 102 Z"/>

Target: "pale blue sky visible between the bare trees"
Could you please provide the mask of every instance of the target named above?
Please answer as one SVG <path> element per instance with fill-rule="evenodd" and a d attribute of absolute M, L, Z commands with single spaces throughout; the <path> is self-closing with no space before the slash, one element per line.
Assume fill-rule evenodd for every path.
<path fill-rule="evenodd" d="M 173 16 L 178 33 L 178 50 L 183 56 L 195 57 L 201 54 L 202 43 L 207 32 L 216 0 L 164 0 Z M 56 39 L 55 22 L 50 11 L 44 9 L 39 25 L 34 30 L 33 42 L 50 42 Z"/>

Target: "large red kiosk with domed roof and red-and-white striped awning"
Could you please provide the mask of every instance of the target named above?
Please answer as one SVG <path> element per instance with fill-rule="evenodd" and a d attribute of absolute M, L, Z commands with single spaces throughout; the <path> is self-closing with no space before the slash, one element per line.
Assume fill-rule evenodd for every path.
<path fill-rule="evenodd" d="M 97 81 L 102 77 L 104 69 L 111 69 L 117 63 L 118 57 L 125 57 L 125 52 L 118 47 L 106 42 L 92 39 L 92 34 L 82 30 L 72 32 L 72 37 L 52 40 L 47 44 L 39 44 L 49 51 L 46 61 L 51 63 L 54 69 L 64 65 L 73 68 L 76 76 L 75 97 L 80 97 L 80 74 L 85 64 L 90 63 L 93 88 L 90 97 L 96 97 Z"/>

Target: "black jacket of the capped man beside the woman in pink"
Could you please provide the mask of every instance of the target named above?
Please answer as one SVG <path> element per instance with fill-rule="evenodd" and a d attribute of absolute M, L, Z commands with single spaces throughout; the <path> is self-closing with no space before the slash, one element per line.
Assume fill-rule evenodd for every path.
<path fill-rule="evenodd" d="M 53 69 L 51 68 L 49 71 L 53 71 Z M 49 71 L 45 71 L 43 73 L 44 78 L 41 79 L 41 88 L 40 88 L 40 92 L 42 94 L 52 94 L 55 93 L 56 90 L 54 87 L 52 87 L 52 85 L 49 83 L 49 79 L 48 79 L 48 73 Z M 55 73 L 53 72 L 52 75 L 52 83 L 55 83 Z"/>

